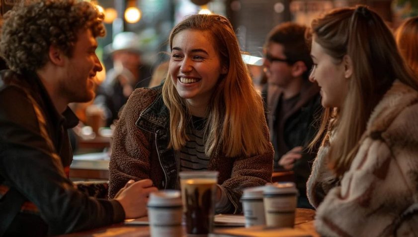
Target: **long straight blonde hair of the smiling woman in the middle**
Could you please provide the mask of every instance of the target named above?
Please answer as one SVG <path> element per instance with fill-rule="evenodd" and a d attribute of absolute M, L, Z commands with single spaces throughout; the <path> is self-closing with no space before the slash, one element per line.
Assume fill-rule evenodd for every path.
<path fill-rule="evenodd" d="M 207 108 L 206 155 L 223 152 L 228 157 L 236 157 L 266 152 L 269 140 L 268 131 L 263 126 L 265 119 L 261 98 L 253 88 L 231 23 L 221 15 L 191 15 L 172 29 L 170 49 L 174 36 L 187 29 L 209 32 L 214 48 L 218 50 L 221 66 L 228 68 L 228 73 L 219 78 Z M 169 74 L 163 86 L 163 99 L 170 112 L 168 146 L 179 150 L 188 139 L 186 128 L 191 115 Z"/>

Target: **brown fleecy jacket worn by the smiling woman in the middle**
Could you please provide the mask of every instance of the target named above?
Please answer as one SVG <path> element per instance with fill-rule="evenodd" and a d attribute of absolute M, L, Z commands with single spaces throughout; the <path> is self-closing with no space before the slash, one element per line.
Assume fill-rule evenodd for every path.
<path fill-rule="evenodd" d="M 118 121 L 110 158 L 109 198 L 130 179 L 150 178 L 159 189 L 174 189 L 178 170 L 169 141 L 169 112 L 161 87 L 137 89 L 129 98 Z M 254 124 L 256 125 L 256 124 Z M 268 129 L 265 127 L 267 141 Z M 270 143 L 271 146 L 271 143 Z M 270 182 L 273 170 L 273 148 L 252 157 L 226 157 L 216 152 L 210 157 L 208 170 L 219 171 L 218 184 L 231 202 L 229 212 L 240 213 L 240 198 L 245 187 Z"/>

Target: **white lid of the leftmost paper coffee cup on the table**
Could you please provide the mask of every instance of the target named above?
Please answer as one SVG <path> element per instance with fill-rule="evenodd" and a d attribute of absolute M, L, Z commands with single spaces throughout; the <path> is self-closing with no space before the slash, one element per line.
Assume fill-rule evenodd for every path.
<path fill-rule="evenodd" d="M 165 190 L 150 194 L 148 207 L 182 206 L 179 190 Z"/>

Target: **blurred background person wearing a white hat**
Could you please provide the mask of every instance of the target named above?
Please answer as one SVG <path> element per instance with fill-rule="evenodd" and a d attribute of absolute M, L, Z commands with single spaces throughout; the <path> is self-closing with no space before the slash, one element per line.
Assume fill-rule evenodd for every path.
<path fill-rule="evenodd" d="M 105 50 L 111 54 L 113 68 L 99 86 L 94 104 L 104 107 L 109 126 L 118 119 L 120 109 L 135 88 L 149 86 L 152 69 L 141 60 L 141 40 L 134 32 L 116 34 Z"/>

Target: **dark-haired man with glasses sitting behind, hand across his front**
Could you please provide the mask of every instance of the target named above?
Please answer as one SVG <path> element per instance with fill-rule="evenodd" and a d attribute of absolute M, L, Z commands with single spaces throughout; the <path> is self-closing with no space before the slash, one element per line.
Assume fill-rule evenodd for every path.
<path fill-rule="evenodd" d="M 275 152 L 274 168 L 294 171 L 300 193 L 298 207 L 312 208 L 306 198 L 306 181 L 316 150 L 309 152 L 307 146 L 317 132 L 314 121 L 321 116 L 322 107 L 318 86 L 308 80 L 312 59 L 305 31 L 305 26 L 287 22 L 268 34 L 263 98 Z"/>

